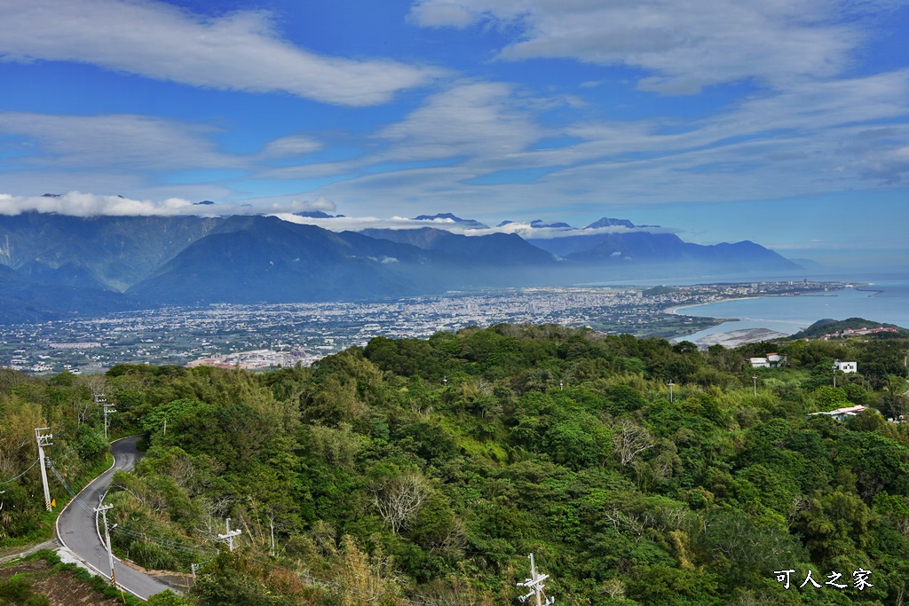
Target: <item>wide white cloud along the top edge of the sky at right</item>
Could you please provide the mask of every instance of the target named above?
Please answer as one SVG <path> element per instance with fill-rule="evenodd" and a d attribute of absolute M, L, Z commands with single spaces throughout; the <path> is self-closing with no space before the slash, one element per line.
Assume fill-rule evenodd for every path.
<path fill-rule="evenodd" d="M 644 89 L 691 94 L 756 78 L 784 87 L 840 75 L 863 43 L 863 21 L 892 5 L 835 0 L 420 0 L 419 25 L 508 26 L 504 59 L 573 58 L 649 73 Z"/>

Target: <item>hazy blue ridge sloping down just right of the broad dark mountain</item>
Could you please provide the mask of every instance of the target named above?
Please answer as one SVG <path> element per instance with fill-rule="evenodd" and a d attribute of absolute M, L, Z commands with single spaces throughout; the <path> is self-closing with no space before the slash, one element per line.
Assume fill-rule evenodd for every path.
<path fill-rule="evenodd" d="M 494 265 L 545 265 L 554 263 L 553 255 L 528 243 L 516 233 L 490 233 L 466 236 L 434 227 L 420 229 L 365 229 L 373 238 L 411 244 L 429 251 L 443 251 Z"/>

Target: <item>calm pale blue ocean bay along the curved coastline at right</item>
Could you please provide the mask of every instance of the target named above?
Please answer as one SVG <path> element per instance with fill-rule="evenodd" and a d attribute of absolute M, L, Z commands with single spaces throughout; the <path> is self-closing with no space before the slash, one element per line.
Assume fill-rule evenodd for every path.
<path fill-rule="evenodd" d="M 858 317 L 909 328 L 909 276 L 827 275 L 817 279 L 854 280 L 856 283 L 872 285 L 866 287 L 866 290 L 847 288 L 796 297 L 758 297 L 684 307 L 677 310 L 677 313 L 735 320 L 677 337 L 676 340 L 684 339 L 696 343 L 699 339 L 714 333 L 728 333 L 746 328 L 767 328 L 778 333 L 793 334 L 824 318 L 845 320 Z M 881 292 L 868 292 L 872 289 Z"/>

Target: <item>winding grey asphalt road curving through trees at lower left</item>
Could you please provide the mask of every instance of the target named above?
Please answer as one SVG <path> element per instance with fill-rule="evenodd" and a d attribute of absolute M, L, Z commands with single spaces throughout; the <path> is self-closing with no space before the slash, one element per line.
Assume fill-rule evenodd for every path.
<path fill-rule="evenodd" d="M 132 471 L 135 462 L 141 458 L 142 453 L 135 449 L 135 443 L 139 438 L 140 436 L 134 435 L 113 442 L 111 452 L 114 453 L 114 466 L 85 486 L 57 518 L 57 540 L 105 579 L 110 579 L 111 571 L 107 563 L 107 549 L 98 536 L 97 514 L 94 510 L 107 492 L 114 472 Z M 114 570 L 117 585 L 143 600 L 147 600 L 155 593 L 171 589 L 154 577 L 130 568 L 116 557 Z"/>

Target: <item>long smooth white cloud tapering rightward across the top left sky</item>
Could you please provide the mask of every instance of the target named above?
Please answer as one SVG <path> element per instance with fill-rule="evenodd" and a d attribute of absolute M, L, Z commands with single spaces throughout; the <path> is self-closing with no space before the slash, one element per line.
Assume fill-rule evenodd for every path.
<path fill-rule="evenodd" d="M 0 24 L 6 61 L 75 61 L 329 104 L 382 104 L 438 74 L 390 60 L 315 55 L 281 39 L 264 12 L 210 18 L 147 0 L 27 0 L 0 3 Z"/>

